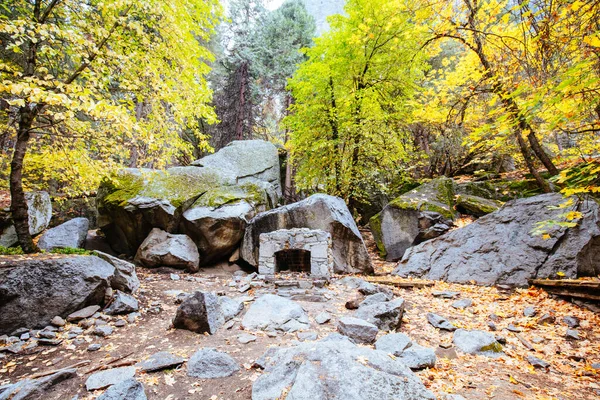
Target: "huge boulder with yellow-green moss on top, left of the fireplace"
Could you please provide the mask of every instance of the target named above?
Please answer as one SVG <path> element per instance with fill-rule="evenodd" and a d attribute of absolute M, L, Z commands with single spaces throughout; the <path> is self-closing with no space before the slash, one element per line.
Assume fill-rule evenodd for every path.
<path fill-rule="evenodd" d="M 134 254 L 153 228 L 188 235 L 204 264 L 226 259 L 247 221 L 281 194 L 274 145 L 233 142 L 189 167 L 125 169 L 98 190 L 98 224 L 119 253 Z"/>

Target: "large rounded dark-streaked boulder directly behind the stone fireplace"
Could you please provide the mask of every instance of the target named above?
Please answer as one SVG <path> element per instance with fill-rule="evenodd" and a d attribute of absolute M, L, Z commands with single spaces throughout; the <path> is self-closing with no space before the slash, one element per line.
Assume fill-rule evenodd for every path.
<path fill-rule="evenodd" d="M 362 236 L 346 203 L 339 197 L 315 194 L 298 203 L 254 217 L 244 234 L 241 256 L 258 266 L 260 235 L 280 229 L 310 228 L 329 232 L 336 273 L 372 273 L 373 266 Z"/>

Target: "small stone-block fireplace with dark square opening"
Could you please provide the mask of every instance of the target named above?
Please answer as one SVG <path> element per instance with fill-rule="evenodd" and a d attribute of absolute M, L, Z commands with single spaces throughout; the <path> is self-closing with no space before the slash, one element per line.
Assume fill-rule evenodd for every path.
<path fill-rule="evenodd" d="M 329 232 L 313 229 L 281 229 L 262 233 L 258 249 L 258 273 L 300 272 L 328 277 L 333 271 Z"/>

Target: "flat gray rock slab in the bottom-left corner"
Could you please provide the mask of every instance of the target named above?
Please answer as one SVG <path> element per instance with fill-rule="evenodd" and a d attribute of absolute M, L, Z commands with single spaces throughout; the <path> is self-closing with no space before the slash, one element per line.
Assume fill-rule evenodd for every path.
<path fill-rule="evenodd" d="M 12 385 L 0 386 L 0 400 L 37 400 L 46 398 L 54 385 L 77 376 L 77 369 L 63 369 L 39 379 L 24 379 Z"/>

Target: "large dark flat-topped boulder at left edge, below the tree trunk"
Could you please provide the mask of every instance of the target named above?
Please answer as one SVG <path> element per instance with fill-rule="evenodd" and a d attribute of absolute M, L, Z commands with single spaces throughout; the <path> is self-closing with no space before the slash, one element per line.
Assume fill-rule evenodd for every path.
<path fill-rule="evenodd" d="M 0 334 L 102 304 L 114 273 L 94 256 L 9 259 L 0 268 Z"/>

